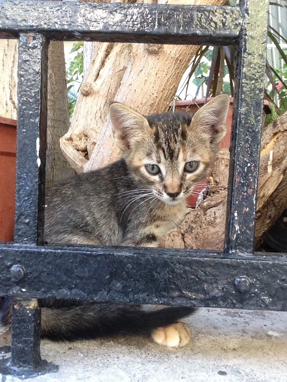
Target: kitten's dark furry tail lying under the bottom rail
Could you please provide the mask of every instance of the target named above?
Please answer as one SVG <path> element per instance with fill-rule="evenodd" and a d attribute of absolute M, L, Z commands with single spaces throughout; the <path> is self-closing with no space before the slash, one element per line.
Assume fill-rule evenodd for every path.
<path fill-rule="evenodd" d="M 7 304 L 5 304 L 7 306 Z M 171 325 L 196 311 L 192 307 L 168 307 L 146 311 L 145 306 L 114 303 L 83 303 L 60 308 L 42 308 L 41 335 L 52 340 L 78 340 L 143 334 Z M 2 316 L 11 321 L 11 308 Z"/>

